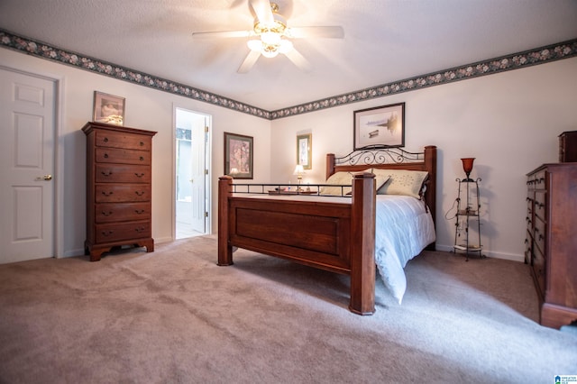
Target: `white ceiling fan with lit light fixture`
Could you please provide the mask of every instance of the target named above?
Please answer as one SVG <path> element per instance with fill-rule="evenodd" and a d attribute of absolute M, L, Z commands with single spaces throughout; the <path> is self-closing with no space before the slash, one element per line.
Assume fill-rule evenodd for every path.
<path fill-rule="evenodd" d="M 291 27 L 285 18 L 279 14 L 279 5 L 269 0 L 250 0 L 249 3 L 256 17 L 250 31 L 229 32 L 193 32 L 194 38 L 249 38 L 247 45 L 249 54 L 237 70 L 246 73 L 262 56 L 274 58 L 279 53 L 287 56 L 299 69 L 308 70 L 310 64 L 305 57 L 295 49 L 292 39 L 298 38 L 336 38 L 343 39 L 344 32 L 341 26 L 310 26 Z"/>

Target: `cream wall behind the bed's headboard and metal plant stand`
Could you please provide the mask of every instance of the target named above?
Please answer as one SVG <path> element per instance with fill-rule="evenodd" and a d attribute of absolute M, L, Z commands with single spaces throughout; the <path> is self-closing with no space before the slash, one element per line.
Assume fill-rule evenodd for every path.
<path fill-rule="evenodd" d="M 353 150 L 353 111 L 406 103 L 408 151 L 438 147 L 437 249 L 449 251 L 454 220 L 444 215 L 463 178 L 461 158 L 476 158 L 481 181 L 481 243 L 493 257 L 523 260 L 526 173 L 558 160 L 559 133 L 577 130 L 577 58 L 430 87 L 272 122 L 272 181 L 286 183 L 299 133 L 311 132 L 313 169 L 303 182 L 325 179 L 325 153 Z M 454 213 L 454 210 L 452 211 Z"/>

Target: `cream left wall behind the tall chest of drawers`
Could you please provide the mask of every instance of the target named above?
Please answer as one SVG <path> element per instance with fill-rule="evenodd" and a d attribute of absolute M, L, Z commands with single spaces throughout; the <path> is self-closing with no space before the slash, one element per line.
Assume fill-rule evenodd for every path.
<path fill-rule="evenodd" d="M 124 126 L 157 131 L 152 139 L 152 237 L 156 242 L 172 239 L 173 194 L 173 108 L 179 106 L 212 115 L 212 227 L 217 220 L 217 180 L 224 172 L 224 132 L 254 137 L 254 182 L 270 179 L 270 121 L 248 114 L 175 96 L 148 87 L 107 78 L 82 69 L 38 59 L 13 50 L 0 49 L 0 65 L 57 78 L 63 83 L 60 111 L 60 159 L 62 173 L 55 179 L 63 186 L 64 203 L 57 215 L 61 243 L 57 256 L 84 252 L 86 238 L 86 136 L 80 131 L 92 120 L 94 91 L 126 98 Z"/>

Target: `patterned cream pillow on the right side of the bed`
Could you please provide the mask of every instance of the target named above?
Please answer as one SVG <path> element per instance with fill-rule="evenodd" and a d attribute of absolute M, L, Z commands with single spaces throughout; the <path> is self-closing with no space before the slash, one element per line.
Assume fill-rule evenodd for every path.
<path fill-rule="evenodd" d="M 372 169 L 377 178 L 389 180 L 377 190 L 378 195 L 405 195 L 421 198 L 428 172 L 408 169 Z"/>

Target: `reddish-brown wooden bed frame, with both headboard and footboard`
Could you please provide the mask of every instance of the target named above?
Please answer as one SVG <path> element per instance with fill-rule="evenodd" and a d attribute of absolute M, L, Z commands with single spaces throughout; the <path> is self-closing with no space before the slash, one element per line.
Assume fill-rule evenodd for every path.
<path fill-rule="evenodd" d="M 233 247 L 257 251 L 351 277 L 349 309 L 375 311 L 374 175 L 364 170 L 426 170 L 425 199 L 435 221 L 436 147 L 412 153 L 397 148 L 326 156 L 326 178 L 338 171 L 353 175 L 351 201 L 343 198 L 255 198 L 234 193 L 233 178 L 218 183 L 218 265 L 233 264 Z M 435 243 L 428 249 L 435 249 Z"/>

